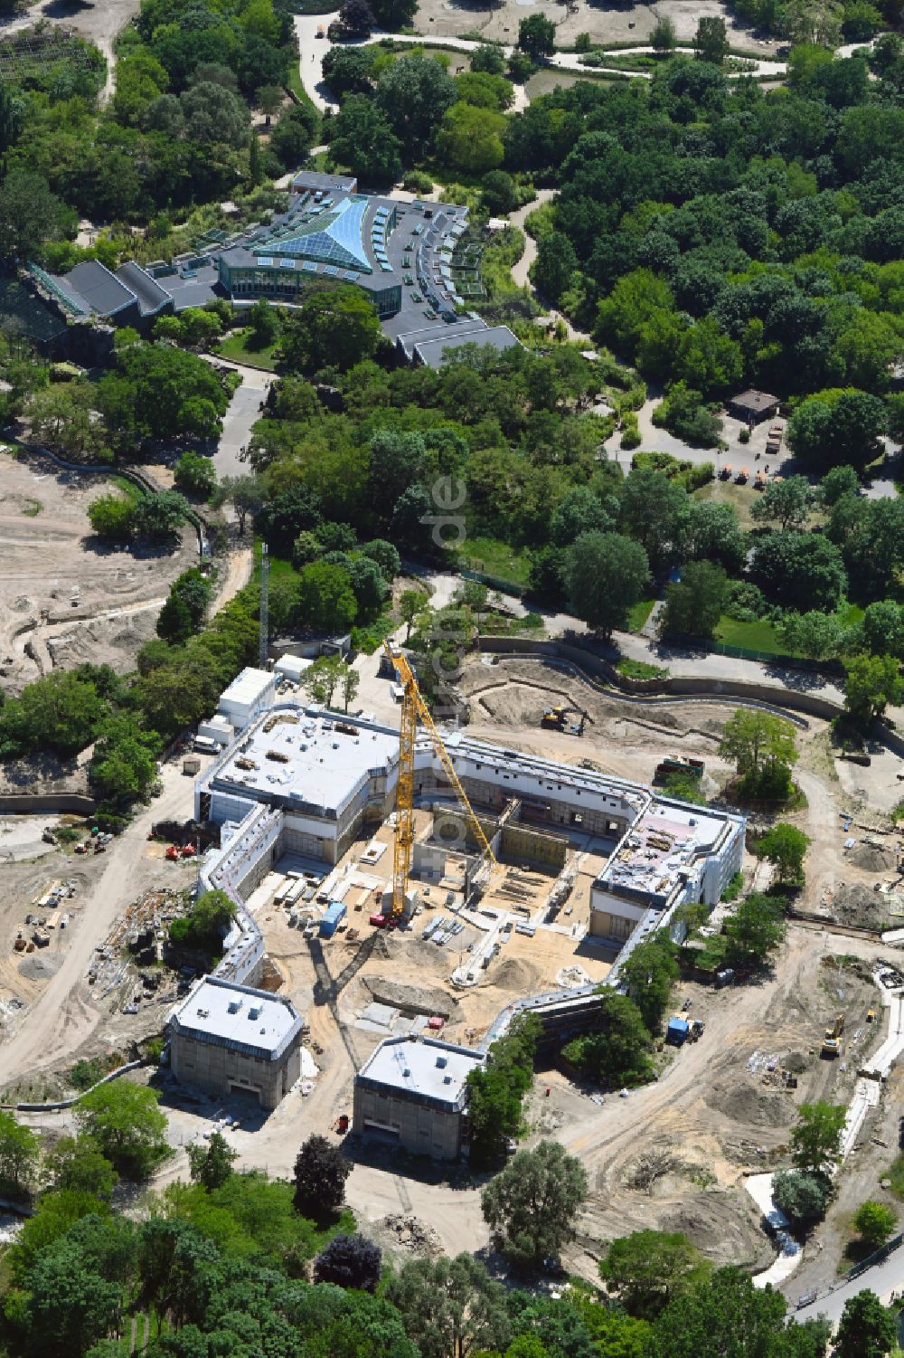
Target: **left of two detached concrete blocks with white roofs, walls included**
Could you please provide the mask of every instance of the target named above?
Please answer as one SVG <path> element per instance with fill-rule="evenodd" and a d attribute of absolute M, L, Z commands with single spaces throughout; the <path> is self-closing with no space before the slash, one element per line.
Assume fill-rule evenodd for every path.
<path fill-rule="evenodd" d="M 301 1027 L 290 999 L 205 976 L 170 1016 L 172 1074 L 221 1099 L 250 1093 L 276 1108 L 301 1074 Z"/>

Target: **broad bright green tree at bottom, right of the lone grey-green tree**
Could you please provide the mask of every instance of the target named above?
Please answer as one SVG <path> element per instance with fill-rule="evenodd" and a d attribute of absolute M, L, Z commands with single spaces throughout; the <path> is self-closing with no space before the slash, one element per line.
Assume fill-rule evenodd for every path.
<path fill-rule="evenodd" d="M 609 1244 L 600 1278 L 630 1316 L 656 1320 L 668 1304 L 703 1286 L 713 1266 L 681 1232 L 635 1230 Z"/>

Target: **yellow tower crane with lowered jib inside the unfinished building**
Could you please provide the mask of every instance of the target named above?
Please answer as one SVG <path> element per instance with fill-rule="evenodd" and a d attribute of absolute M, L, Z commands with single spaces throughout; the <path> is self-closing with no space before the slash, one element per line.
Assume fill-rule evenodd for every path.
<path fill-rule="evenodd" d="M 482 856 L 490 862 L 495 862 L 495 854 L 490 849 L 490 842 L 474 813 L 468 794 L 455 771 L 449 751 L 442 744 L 442 736 L 436 729 L 430 710 L 421 697 L 411 665 L 403 655 L 396 655 L 392 650 L 388 641 L 384 641 L 383 646 L 395 665 L 403 690 L 402 721 L 399 722 L 399 782 L 395 792 L 395 845 L 392 853 L 392 915 L 398 919 L 404 914 L 404 889 L 409 873 L 411 872 L 411 846 L 414 843 L 414 741 L 418 733 L 418 717 L 433 741 L 433 748 L 440 758 L 447 778 L 455 788 L 455 794 L 462 803 L 468 823 L 481 845 Z"/>

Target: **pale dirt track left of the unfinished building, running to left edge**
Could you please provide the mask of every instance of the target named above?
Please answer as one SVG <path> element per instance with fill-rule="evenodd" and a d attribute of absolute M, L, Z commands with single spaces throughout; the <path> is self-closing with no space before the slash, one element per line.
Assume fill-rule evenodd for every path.
<path fill-rule="evenodd" d="M 86 982 L 94 951 L 126 902 L 141 892 L 143 850 L 152 822 L 191 813 L 193 784 L 182 774 L 181 762 L 164 765 L 162 781 L 162 794 L 111 842 L 103 873 L 84 898 L 79 928 L 72 932 L 60 970 L 24 1016 L 15 1039 L 0 1044 L 0 1085 L 64 1066 L 103 1023 L 106 1016 Z"/>

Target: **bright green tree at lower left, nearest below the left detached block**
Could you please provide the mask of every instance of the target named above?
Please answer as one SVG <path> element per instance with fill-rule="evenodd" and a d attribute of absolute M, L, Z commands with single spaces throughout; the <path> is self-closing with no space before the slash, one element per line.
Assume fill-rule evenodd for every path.
<path fill-rule="evenodd" d="M 147 1179 L 170 1153 L 166 1115 L 156 1089 L 128 1080 L 100 1085 L 76 1104 L 79 1130 L 91 1137 L 110 1164 L 129 1179 Z"/>

